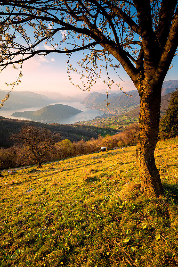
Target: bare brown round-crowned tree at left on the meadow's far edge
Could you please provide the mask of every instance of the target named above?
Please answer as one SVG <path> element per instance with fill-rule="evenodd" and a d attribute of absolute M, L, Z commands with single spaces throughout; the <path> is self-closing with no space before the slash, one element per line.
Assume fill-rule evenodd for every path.
<path fill-rule="evenodd" d="M 36 160 L 39 167 L 42 167 L 42 158 L 48 153 L 56 153 L 54 145 L 59 140 L 59 135 L 54 135 L 45 128 L 25 124 L 20 132 L 12 136 L 12 139 L 21 145 L 27 158 Z"/>

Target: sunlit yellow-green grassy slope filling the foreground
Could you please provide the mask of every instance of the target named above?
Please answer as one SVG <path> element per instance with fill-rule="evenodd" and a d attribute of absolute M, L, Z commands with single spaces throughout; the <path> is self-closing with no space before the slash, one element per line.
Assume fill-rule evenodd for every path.
<path fill-rule="evenodd" d="M 139 193 L 135 150 L 3 171 L 1 266 L 176 266 L 178 139 L 157 143 L 158 199 Z"/>

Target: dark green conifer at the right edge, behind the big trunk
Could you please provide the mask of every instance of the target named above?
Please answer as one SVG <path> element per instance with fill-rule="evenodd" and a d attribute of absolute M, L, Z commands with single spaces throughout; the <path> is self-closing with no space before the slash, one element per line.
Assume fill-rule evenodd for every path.
<path fill-rule="evenodd" d="M 169 137 L 178 135 L 178 88 L 170 94 L 169 106 L 165 109 L 165 114 L 160 121 L 160 129 L 164 139 L 166 135 Z"/>

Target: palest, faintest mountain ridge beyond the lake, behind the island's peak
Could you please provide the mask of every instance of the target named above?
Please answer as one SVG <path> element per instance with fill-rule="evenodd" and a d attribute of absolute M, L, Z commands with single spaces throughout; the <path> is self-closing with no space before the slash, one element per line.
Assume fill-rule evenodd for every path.
<path fill-rule="evenodd" d="M 82 97 L 63 96 L 57 92 L 39 91 L 38 93 L 53 99 L 53 102 L 80 102 L 82 100 Z"/>

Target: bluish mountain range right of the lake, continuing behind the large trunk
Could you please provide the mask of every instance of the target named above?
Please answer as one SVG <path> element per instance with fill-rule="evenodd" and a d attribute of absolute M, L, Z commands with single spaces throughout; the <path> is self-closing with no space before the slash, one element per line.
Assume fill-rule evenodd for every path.
<path fill-rule="evenodd" d="M 178 87 L 178 80 L 165 81 L 163 83 L 162 96 L 175 91 L 176 87 Z M 133 109 L 140 104 L 140 96 L 137 90 L 132 90 L 126 93 L 132 95 L 132 97 L 127 96 L 122 92 L 118 94 L 111 93 L 108 96 L 108 100 L 110 102 L 109 109 L 111 111 L 122 112 L 124 110 Z M 98 92 L 93 92 L 86 96 L 84 101 L 82 101 L 81 103 L 93 108 L 106 110 L 106 98 L 107 95 Z"/>

